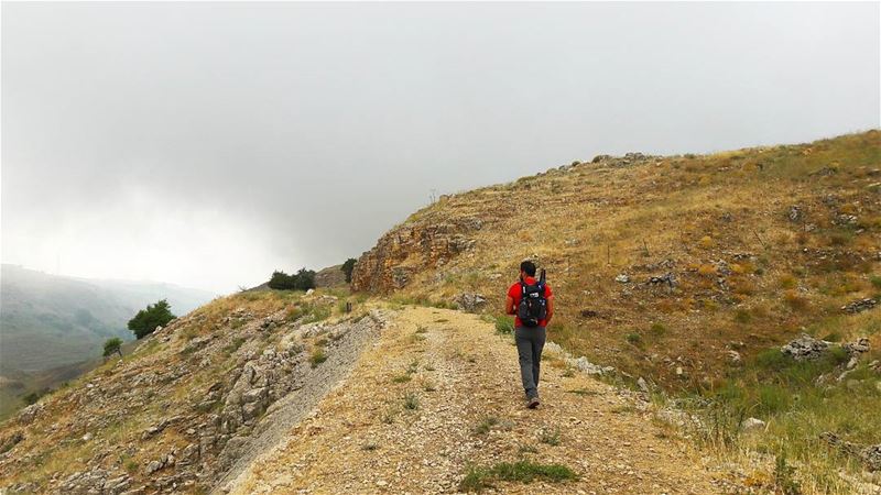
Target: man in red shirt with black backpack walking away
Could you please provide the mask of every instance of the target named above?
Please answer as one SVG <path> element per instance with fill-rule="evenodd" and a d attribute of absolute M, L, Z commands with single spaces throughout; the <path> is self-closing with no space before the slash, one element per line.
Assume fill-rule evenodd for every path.
<path fill-rule="evenodd" d="M 520 378 L 526 393 L 526 407 L 539 407 L 539 369 L 542 364 L 542 348 L 546 338 L 545 328 L 554 316 L 554 294 L 545 283 L 544 270 L 535 279 L 535 264 L 520 264 L 520 280 L 508 289 L 505 312 L 514 315 L 514 340 L 520 356 Z"/>

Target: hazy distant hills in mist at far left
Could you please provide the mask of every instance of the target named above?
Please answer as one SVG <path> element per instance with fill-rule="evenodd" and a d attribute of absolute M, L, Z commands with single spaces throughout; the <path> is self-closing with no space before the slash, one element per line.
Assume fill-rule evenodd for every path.
<path fill-rule="evenodd" d="M 0 271 L 0 417 L 26 392 L 53 387 L 90 367 L 110 337 L 134 336 L 127 322 L 166 298 L 177 316 L 214 298 L 168 284 L 50 275 L 15 265 Z"/>

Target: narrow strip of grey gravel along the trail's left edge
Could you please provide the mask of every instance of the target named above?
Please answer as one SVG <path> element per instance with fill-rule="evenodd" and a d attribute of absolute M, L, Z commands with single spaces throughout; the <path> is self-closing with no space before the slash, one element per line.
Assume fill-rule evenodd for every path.
<path fill-rule="evenodd" d="M 373 311 L 358 323 L 344 322 L 328 328 L 342 337 L 334 342 L 327 361 L 313 370 L 302 388 L 274 403 L 260 419 L 257 431 L 238 452 L 232 466 L 215 484 L 213 493 L 227 493 L 235 480 L 261 455 L 273 451 L 285 439 L 291 427 L 300 422 L 335 386 L 349 374 L 365 348 L 370 345 L 384 324 L 387 315 Z M 346 328 L 341 328 L 341 327 Z"/>

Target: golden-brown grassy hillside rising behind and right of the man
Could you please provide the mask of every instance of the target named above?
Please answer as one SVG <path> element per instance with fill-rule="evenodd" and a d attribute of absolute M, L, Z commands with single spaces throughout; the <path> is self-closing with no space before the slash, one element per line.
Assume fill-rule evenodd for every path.
<path fill-rule="evenodd" d="M 352 286 L 498 315 L 524 258 L 555 289 L 552 339 L 667 388 L 717 386 L 803 331 L 878 349 L 881 132 L 597 156 L 444 196 L 365 253 Z"/>

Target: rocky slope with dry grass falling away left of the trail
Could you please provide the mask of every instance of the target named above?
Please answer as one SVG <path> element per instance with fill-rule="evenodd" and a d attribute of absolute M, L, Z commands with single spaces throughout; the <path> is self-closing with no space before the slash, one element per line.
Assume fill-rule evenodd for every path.
<path fill-rule="evenodd" d="M 350 369 L 380 312 L 246 293 L 160 329 L 0 427 L 0 490 L 205 492 L 243 469 Z"/>

